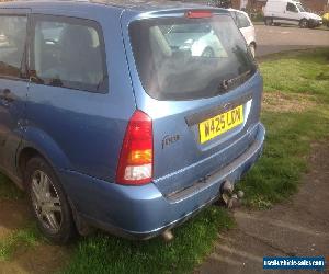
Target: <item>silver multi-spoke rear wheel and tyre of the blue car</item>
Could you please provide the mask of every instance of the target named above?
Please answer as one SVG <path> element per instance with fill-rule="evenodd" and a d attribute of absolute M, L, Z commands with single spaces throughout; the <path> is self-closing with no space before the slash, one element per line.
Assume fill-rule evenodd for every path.
<path fill-rule="evenodd" d="M 68 198 L 55 172 L 43 158 L 35 157 L 27 162 L 24 174 L 37 227 L 52 242 L 68 243 L 77 232 Z"/>

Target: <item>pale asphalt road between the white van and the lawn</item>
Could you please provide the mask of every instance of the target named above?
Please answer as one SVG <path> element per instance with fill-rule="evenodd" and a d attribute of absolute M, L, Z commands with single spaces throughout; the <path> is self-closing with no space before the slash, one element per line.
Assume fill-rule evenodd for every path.
<path fill-rule="evenodd" d="M 293 49 L 329 47 L 329 28 L 256 25 L 257 56 Z"/>

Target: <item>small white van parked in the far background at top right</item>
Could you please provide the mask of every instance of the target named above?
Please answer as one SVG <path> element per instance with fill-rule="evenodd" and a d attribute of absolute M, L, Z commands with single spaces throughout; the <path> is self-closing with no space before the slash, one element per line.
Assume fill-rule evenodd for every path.
<path fill-rule="evenodd" d="M 296 24 L 313 28 L 322 24 L 322 19 L 306 12 L 298 0 L 268 0 L 263 12 L 266 25 Z"/>

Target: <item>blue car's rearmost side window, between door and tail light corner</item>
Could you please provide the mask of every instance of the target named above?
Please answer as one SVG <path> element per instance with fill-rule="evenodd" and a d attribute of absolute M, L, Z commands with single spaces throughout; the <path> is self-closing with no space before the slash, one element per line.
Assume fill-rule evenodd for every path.
<path fill-rule="evenodd" d="M 105 49 L 97 22 L 36 15 L 33 25 L 31 73 L 36 82 L 106 92 Z"/>

